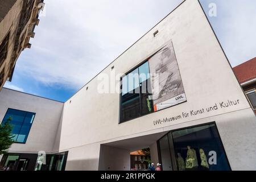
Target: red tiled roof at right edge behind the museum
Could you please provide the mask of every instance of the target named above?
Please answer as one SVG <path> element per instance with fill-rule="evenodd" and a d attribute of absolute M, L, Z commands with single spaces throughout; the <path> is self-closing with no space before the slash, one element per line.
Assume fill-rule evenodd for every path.
<path fill-rule="evenodd" d="M 256 57 L 233 68 L 240 84 L 256 78 Z"/>

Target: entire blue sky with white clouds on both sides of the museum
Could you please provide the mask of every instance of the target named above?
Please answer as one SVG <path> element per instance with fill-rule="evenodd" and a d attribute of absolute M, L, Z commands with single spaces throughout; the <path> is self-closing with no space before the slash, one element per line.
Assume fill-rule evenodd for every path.
<path fill-rule="evenodd" d="M 188 0 L 190 1 L 190 0 Z M 44 0 L 31 49 L 5 87 L 67 101 L 182 0 Z M 201 0 L 232 66 L 256 56 L 256 1 Z"/>

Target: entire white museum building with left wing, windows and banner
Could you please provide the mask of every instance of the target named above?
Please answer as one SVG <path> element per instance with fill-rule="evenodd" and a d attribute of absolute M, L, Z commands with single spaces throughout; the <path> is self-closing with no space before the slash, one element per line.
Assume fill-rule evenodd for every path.
<path fill-rule="evenodd" d="M 113 75 L 119 92 L 102 84 Z M 130 170 L 147 147 L 164 171 L 256 169 L 254 111 L 197 0 L 64 103 L 3 88 L 0 121 L 15 140 L 3 169 Z"/>

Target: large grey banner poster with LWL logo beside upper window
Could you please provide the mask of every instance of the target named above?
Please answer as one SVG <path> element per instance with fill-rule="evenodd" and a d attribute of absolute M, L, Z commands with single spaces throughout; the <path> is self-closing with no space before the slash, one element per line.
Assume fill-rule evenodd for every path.
<path fill-rule="evenodd" d="M 187 101 L 172 41 L 149 60 L 154 111 Z"/>

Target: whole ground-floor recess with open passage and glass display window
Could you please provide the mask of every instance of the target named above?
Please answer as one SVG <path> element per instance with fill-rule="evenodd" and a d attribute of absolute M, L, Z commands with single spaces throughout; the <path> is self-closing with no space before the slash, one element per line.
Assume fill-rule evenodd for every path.
<path fill-rule="evenodd" d="M 147 163 L 141 148 L 150 148 Z M 148 163 L 163 171 L 231 170 L 215 122 L 101 144 L 99 170 L 143 170 Z"/>

